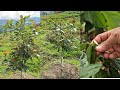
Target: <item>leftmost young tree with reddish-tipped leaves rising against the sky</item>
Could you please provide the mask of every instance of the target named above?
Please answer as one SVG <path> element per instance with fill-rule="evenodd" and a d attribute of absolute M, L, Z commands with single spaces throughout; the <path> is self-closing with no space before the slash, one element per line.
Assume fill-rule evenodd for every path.
<path fill-rule="evenodd" d="M 6 70 L 21 71 L 21 78 L 22 72 L 26 72 L 29 68 L 26 64 L 27 61 L 39 56 L 39 47 L 34 43 L 34 40 L 40 27 L 36 25 L 34 20 L 27 20 L 28 18 L 30 15 L 20 15 L 20 20 L 15 23 L 10 20 L 3 25 L 4 35 L 9 33 L 10 40 L 15 43 L 12 44 L 14 46 L 12 46 L 10 54 L 3 63 L 7 63 L 8 68 Z"/>

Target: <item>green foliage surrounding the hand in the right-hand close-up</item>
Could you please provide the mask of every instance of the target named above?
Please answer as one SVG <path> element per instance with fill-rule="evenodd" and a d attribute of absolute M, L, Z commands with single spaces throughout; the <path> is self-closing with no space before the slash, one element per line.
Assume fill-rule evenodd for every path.
<path fill-rule="evenodd" d="M 120 14 L 118 12 L 114 12 L 114 14 L 116 16 L 110 19 L 110 17 L 108 17 L 110 12 L 83 11 L 81 13 L 81 78 L 120 77 L 119 58 L 115 60 L 106 60 L 102 55 L 96 56 L 95 47 L 98 44 L 92 41 L 96 35 L 107 31 L 110 28 L 114 28 L 115 26 L 119 26 L 119 24 L 114 23 L 114 20 L 115 17 L 119 17 Z M 113 16 L 111 15 L 111 17 Z M 120 19 L 118 19 L 117 22 L 118 21 L 120 22 Z M 111 26 L 112 23 L 114 25 L 113 27 Z"/>

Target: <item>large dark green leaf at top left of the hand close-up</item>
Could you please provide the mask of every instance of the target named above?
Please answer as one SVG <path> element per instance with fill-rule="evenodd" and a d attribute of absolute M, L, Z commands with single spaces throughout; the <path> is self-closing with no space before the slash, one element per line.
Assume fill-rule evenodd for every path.
<path fill-rule="evenodd" d="M 106 28 L 107 21 L 101 11 L 86 11 L 81 14 L 81 22 L 85 22 L 85 31 L 95 28 Z M 89 22 L 89 23 L 88 23 Z"/>

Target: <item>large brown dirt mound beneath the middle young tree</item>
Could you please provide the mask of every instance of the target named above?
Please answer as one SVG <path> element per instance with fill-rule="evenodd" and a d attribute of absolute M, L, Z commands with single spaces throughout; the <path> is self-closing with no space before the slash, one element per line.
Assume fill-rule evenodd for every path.
<path fill-rule="evenodd" d="M 41 74 L 42 79 L 79 79 L 79 70 L 71 64 L 56 64 Z"/>

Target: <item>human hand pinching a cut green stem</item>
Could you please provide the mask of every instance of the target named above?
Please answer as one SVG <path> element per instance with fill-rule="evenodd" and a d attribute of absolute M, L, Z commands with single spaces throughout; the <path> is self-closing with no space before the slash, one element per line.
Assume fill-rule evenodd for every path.
<path fill-rule="evenodd" d="M 93 40 L 99 44 L 96 47 L 97 55 L 102 54 L 106 59 L 120 57 L 120 27 L 99 34 Z"/>

